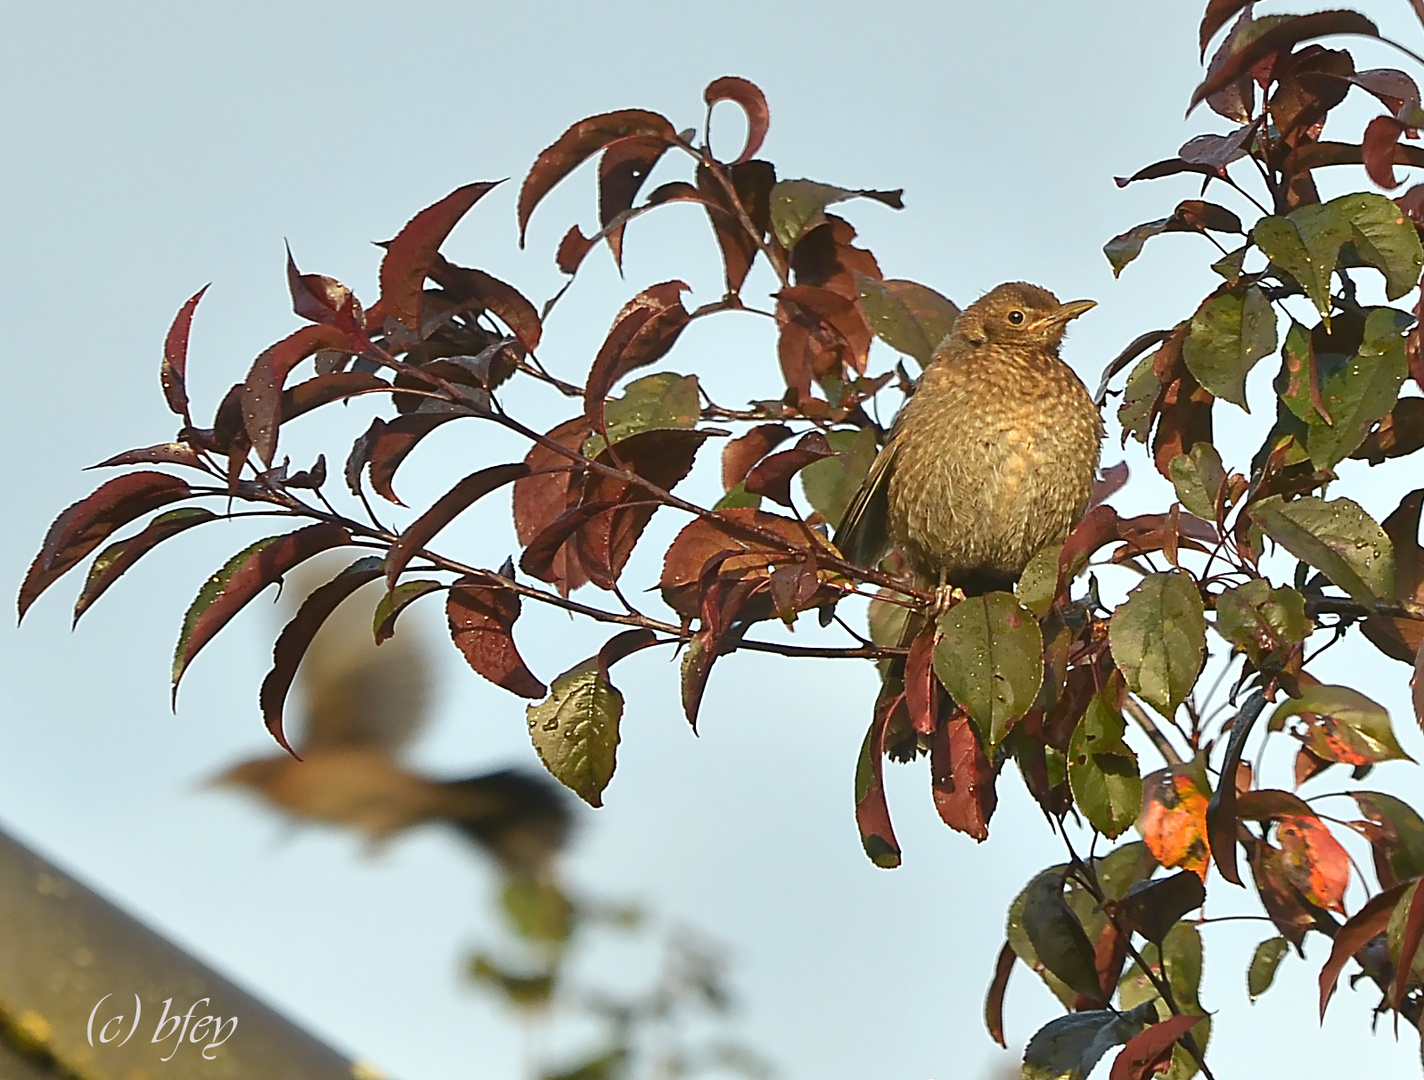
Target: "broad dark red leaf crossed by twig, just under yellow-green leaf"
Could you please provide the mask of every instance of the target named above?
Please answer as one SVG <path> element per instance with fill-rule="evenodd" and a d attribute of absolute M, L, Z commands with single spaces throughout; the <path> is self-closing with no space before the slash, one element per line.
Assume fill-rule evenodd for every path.
<path fill-rule="evenodd" d="M 652 429 L 614 443 L 598 455 L 598 460 L 604 464 L 622 462 L 649 484 L 668 492 L 692 470 L 696 452 L 706 437 L 706 432 L 698 430 Z M 639 484 L 605 473 L 590 473 L 585 479 L 582 502 L 608 503 L 612 507 L 591 519 L 574 540 L 584 573 L 600 588 L 614 587 L 638 537 L 658 509 L 656 503 L 646 503 L 652 497 Z"/>

